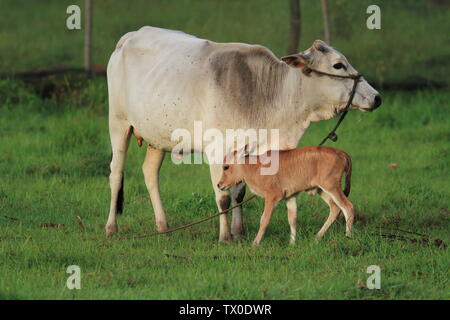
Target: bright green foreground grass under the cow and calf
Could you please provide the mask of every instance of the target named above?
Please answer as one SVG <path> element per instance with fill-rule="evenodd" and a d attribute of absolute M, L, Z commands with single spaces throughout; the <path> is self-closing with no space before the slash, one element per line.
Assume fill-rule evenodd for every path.
<path fill-rule="evenodd" d="M 107 240 L 104 79 L 73 89 L 59 104 L 12 81 L 0 81 L 0 97 L 0 298 L 450 298 L 448 248 L 373 235 L 380 227 L 402 228 L 448 243 L 448 91 L 385 93 L 380 109 L 352 111 L 339 129 L 333 145 L 354 163 L 350 199 L 359 216 L 354 239 L 344 237 L 340 219 L 316 243 L 314 234 L 328 211 L 320 199 L 301 195 L 297 245 L 288 245 L 280 205 L 259 248 L 252 248 L 251 240 L 261 199 L 245 206 L 247 235 L 240 243 L 218 244 L 218 220 L 168 236 Z M 301 144 L 317 144 L 334 123 L 312 125 Z M 132 141 L 121 236 L 154 231 L 141 173 L 144 155 Z M 161 171 L 161 193 L 170 225 L 215 213 L 208 168 L 176 166 L 169 159 Z M 388 166 L 392 162 L 397 169 Z M 64 226 L 40 226 L 50 222 Z M 81 267 L 81 290 L 66 288 L 72 264 Z M 381 290 L 358 288 L 369 265 L 381 267 Z"/>

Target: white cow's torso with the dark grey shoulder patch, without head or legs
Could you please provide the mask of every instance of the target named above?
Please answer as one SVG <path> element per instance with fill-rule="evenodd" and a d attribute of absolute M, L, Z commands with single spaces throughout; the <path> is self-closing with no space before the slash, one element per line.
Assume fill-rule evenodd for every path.
<path fill-rule="evenodd" d="M 173 130 L 193 136 L 194 121 L 203 130 L 261 125 L 255 122 L 275 104 L 286 68 L 262 46 L 143 27 L 124 35 L 110 58 L 110 115 L 171 150 Z"/>

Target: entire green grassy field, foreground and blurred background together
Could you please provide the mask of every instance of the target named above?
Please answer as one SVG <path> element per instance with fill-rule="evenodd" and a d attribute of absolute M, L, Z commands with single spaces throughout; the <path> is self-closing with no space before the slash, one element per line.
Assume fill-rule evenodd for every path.
<path fill-rule="evenodd" d="M 120 36 L 143 25 L 219 42 L 258 43 L 286 54 L 288 1 L 94 2 L 98 65 L 106 65 Z M 67 6 L 83 3 L 2 0 L 0 74 L 81 67 L 83 31 L 69 31 L 65 23 Z M 370 4 L 330 1 L 333 46 L 376 86 L 449 84 L 449 5 L 379 0 L 382 29 L 374 31 L 366 28 Z M 301 23 L 303 50 L 323 38 L 319 1 L 302 1 Z M 246 238 L 239 243 L 218 243 L 218 220 L 167 236 L 106 239 L 106 82 L 73 80 L 61 76 L 32 85 L 0 80 L 0 299 L 450 299 L 447 246 L 379 236 L 415 237 L 394 230 L 405 229 L 450 241 L 448 90 L 383 92 L 381 108 L 351 112 L 339 141 L 328 143 L 353 159 L 353 239 L 344 237 L 341 218 L 317 243 L 314 234 L 328 209 L 319 198 L 301 195 L 297 245 L 288 245 L 283 204 L 262 245 L 252 248 L 261 199 L 245 205 Z M 42 99 L 43 92 L 51 97 L 54 81 L 57 94 Z M 301 145 L 319 143 L 335 121 L 313 124 Z M 141 172 L 144 156 L 145 149 L 132 141 L 118 236 L 155 230 Z M 176 166 L 167 157 L 161 174 L 172 227 L 216 212 L 206 165 Z M 81 290 L 66 287 L 70 265 L 81 268 Z M 365 287 L 370 265 L 381 268 L 381 290 Z"/>

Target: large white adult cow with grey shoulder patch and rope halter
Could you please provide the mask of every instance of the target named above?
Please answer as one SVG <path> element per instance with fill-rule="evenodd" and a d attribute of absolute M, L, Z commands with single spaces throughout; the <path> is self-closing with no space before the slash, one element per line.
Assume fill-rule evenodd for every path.
<path fill-rule="evenodd" d="M 107 71 L 112 145 L 107 235 L 116 232 L 116 213 L 123 209 L 123 170 L 133 131 L 148 145 L 142 169 L 156 226 L 163 232 L 168 227 L 158 175 L 165 152 L 178 143 L 171 140 L 172 131 L 192 132 L 194 121 L 202 121 L 204 130 L 279 129 L 280 148 L 295 148 L 312 121 L 339 114 L 353 85 L 351 79 L 302 72 L 305 66 L 339 75 L 357 73 L 320 40 L 280 60 L 263 46 L 216 43 L 180 31 L 143 27 L 125 34 Z M 381 98 L 364 79 L 359 81 L 351 108 L 371 111 Z M 219 210 L 242 200 L 245 186 L 219 190 L 221 166 L 211 164 L 210 173 Z M 221 216 L 219 241 L 242 233 L 241 208 L 233 210 L 231 234 L 226 215 Z"/>

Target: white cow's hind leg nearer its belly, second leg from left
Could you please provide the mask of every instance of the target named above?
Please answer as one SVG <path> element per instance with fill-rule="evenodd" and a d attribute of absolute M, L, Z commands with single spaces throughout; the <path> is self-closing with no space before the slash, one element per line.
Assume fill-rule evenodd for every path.
<path fill-rule="evenodd" d="M 153 211 L 155 212 L 156 228 L 159 232 L 165 232 L 167 228 L 166 215 L 161 203 L 159 194 L 159 169 L 164 160 L 165 152 L 147 147 L 144 163 L 142 164 L 142 172 L 144 173 L 145 185 L 147 186 L 150 199 L 152 200 Z"/>

